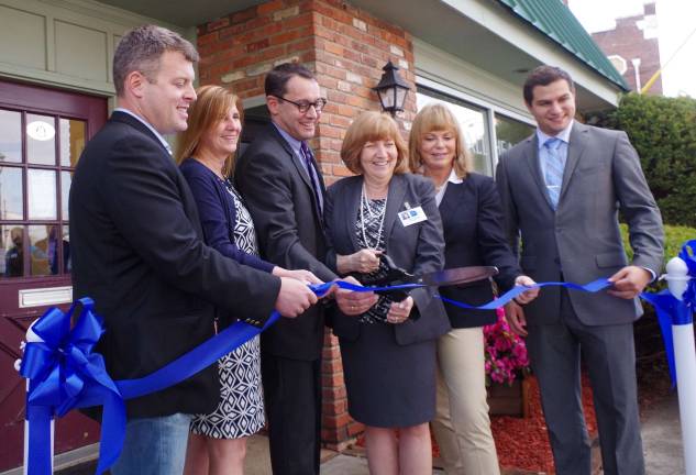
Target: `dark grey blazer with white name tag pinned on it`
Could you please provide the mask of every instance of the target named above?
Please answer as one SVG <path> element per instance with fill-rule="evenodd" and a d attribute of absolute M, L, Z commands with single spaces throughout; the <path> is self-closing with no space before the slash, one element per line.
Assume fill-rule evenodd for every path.
<path fill-rule="evenodd" d="M 349 255 L 360 251 L 355 236 L 355 220 L 360 210 L 363 177 L 343 178 L 329 188 L 324 216 L 330 239 L 327 263 L 336 268 L 336 254 Z M 407 209 L 422 207 L 428 220 L 404 227 L 397 214 Z M 419 175 L 395 175 L 389 181 L 387 211 L 384 220 L 386 253 L 395 264 L 407 272 L 420 275 L 441 270 L 444 265 L 442 222 L 435 203 L 432 183 Z M 450 331 L 442 301 L 437 289 L 419 288 L 409 294 L 418 309 L 418 318 L 394 325 L 395 338 L 401 345 L 434 338 Z M 412 314 L 413 316 L 413 314 Z M 335 309 L 333 332 L 340 338 L 356 340 L 362 324 L 357 317 L 343 314 Z"/>

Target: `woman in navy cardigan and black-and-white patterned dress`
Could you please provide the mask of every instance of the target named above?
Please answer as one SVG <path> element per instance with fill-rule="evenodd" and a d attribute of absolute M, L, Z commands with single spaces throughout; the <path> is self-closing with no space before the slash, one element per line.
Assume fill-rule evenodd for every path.
<path fill-rule="evenodd" d="M 196 93 L 176 161 L 198 205 L 206 243 L 276 276 L 320 283 L 309 270 L 287 270 L 258 257 L 254 223 L 230 180 L 242 131 L 239 98 L 219 86 L 203 86 Z M 258 336 L 220 358 L 218 371 L 220 402 L 213 412 L 191 421 L 187 475 L 242 474 L 246 437 L 265 422 Z"/>

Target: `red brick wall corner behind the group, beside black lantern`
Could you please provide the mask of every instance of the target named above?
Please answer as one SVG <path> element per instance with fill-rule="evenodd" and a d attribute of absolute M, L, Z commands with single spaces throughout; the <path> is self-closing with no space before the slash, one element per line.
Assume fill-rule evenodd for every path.
<path fill-rule="evenodd" d="M 265 74 L 275 65 L 299 62 L 317 74 L 329 102 L 312 146 L 327 184 L 351 173 L 339 156 L 351 121 L 364 110 L 379 110 L 372 88 L 391 59 L 415 85 L 413 49 L 404 30 L 336 0 L 273 0 L 200 25 L 201 85 L 229 86 L 242 98 L 263 96 Z M 416 114 L 415 86 L 398 121 L 406 134 Z M 338 340 L 324 340 L 324 445 L 343 449 L 362 431 L 347 415 Z"/>

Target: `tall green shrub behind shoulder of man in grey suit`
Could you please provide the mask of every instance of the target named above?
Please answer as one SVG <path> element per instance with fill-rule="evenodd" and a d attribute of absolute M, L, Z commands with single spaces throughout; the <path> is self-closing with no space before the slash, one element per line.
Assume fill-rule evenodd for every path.
<path fill-rule="evenodd" d="M 626 131 L 665 223 L 696 227 L 695 99 L 629 93 L 588 121 Z"/>

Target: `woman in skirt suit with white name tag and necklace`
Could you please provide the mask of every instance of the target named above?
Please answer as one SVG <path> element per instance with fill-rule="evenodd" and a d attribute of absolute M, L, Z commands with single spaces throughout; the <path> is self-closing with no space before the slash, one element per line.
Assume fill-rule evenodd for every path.
<path fill-rule="evenodd" d="M 406 143 L 389 115 L 363 112 L 341 158 L 357 176 L 327 194 L 328 265 L 364 278 L 386 253 L 407 272 L 442 269 L 444 241 L 432 183 L 408 172 Z M 409 210 L 418 219 L 404 219 Z M 367 245 L 365 245 L 367 244 Z M 435 412 L 435 341 L 450 330 L 434 289 L 369 309 L 336 312 L 349 412 L 366 426 L 373 474 L 432 474 L 428 422 Z M 398 437 L 397 437 L 398 429 Z"/>

